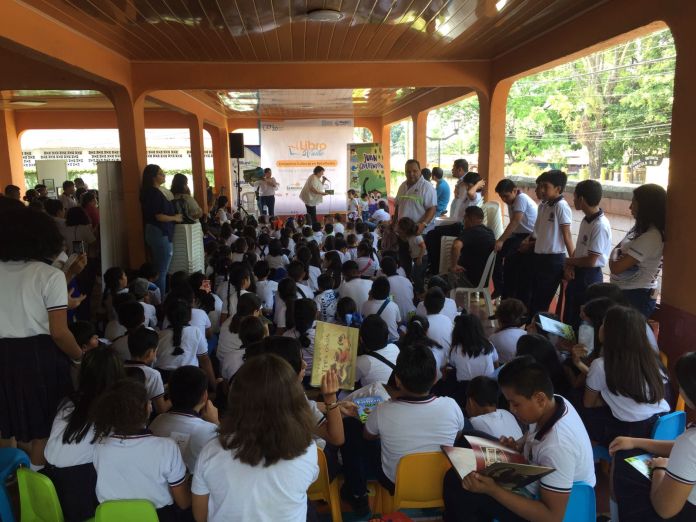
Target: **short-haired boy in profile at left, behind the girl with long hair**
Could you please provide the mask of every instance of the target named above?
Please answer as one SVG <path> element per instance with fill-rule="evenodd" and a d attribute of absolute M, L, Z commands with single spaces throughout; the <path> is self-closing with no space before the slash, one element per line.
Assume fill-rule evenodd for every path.
<path fill-rule="evenodd" d="M 145 375 L 145 388 L 156 413 L 167 411 L 171 404 L 164 398 L 164 383 L 160 372 L 152 367 L 157 357 L 159 336 L 145 326 L 139 326 L 128 334 L 129 359 L 123 364 L 127 368 L 139 368 Z"/>

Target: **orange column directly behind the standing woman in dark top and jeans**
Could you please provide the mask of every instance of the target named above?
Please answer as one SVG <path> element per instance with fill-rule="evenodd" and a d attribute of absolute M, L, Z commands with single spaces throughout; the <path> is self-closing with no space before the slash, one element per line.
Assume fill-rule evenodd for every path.
<path fill-rule="evenodd" d="M 128 261 L 132 268 L 139 267 L 145 261 L 145 239 L 139 199 L 142 172 L 147 164 L 144 98 L 140 96 L 133 100 L 130 93 L 123 88 L 116 88 L 111 93 L 118 121 L 125 210 L 123 217 L 128 241 Z"/>

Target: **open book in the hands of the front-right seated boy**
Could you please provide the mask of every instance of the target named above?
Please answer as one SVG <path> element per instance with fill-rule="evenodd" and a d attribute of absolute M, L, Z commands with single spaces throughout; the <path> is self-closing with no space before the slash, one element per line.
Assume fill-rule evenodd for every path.
<path fill-rule="evenodd" d="M 472 449 L 441 446 L 462 480 L 476 471 L 491 477 L 505 489 L 518 489 L 554 471 L 553 468 L 527 463 L 522 454 L 498 442 L 479 437 L 465 438 Z"/>

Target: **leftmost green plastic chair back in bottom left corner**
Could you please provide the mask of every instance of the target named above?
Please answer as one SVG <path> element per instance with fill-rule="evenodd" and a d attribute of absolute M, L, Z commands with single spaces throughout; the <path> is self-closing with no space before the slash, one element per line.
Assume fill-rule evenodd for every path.
<path fill-rule="evenodd" d="M 63 510 L 50 478 L 29 468 L 19 468 L 17 483 L 22 522 L 63 522 Z"/>

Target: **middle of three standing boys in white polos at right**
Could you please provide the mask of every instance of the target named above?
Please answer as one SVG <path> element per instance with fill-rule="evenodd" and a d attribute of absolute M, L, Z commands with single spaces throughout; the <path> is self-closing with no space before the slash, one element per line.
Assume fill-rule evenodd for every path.
<path fill-rule="evenodd" d="M 573 256 L 573 238 L 570 225 L 573 214 L 563 199 L 568 176 L 560 170 L 544 172 L 538 180 L 541 199 L 537 220 L 534 224 L 534 260 L 531 263 L 531 297 L 529 317 L 538 312 L 547 312 L 556 289 L 563 277 L 563 266 L 568 256 Z M 530 238 L 522 242 L 522 248 L 530 243 Z"/>

